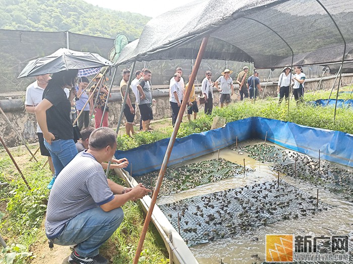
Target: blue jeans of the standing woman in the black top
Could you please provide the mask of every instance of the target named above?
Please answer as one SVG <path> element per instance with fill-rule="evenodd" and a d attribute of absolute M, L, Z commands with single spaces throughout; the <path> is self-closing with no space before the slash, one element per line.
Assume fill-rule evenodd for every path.
<path fill-rule="evenodd" d="M 55 178 L 62 169 L 77 155 L 77 148 L 73 139 L 58 139 L 49 145 L 44 140 L 45 147 L 49 150 L 55 169 Z"/>

